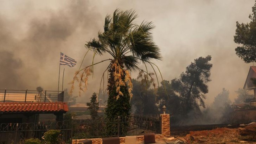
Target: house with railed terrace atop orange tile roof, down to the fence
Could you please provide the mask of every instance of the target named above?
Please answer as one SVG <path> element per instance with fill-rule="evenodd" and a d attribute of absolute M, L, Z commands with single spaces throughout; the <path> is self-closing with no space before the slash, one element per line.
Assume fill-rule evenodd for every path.
<path fill-rule="evenodd" d="M 58 91 L 0 90 L 0 123 L 38 123 L 47 114 L 62 121 L 69 111 L 63 96 Z"/>

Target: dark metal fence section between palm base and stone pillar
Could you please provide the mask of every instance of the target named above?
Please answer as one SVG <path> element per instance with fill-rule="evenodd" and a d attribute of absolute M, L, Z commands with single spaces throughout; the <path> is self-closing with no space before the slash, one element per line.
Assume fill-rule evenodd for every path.
<path fill-rule="evenodd" d="M 143 135 L 152 132 L 161 133 L 161 119 L 158 115 L 73 120 L 73 139 Z"/>

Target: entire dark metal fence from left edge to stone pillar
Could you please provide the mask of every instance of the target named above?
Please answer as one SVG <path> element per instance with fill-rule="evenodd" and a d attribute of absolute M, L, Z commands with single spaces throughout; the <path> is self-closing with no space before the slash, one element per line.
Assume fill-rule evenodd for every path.
<path fill-rule="evenodd" d="M 22 143 L 25 139 L 33 137 L 42 139 L 47 130 L 60 130 L 61 138 L 66 143 L 70 143 L 72 139 L 121 137 L 152 132 L 160 134 L 161 118 L 160 116 L 132 115 L 130 117 L 73 119 L 57 123 L 0 124 L 0 144 Z"/>

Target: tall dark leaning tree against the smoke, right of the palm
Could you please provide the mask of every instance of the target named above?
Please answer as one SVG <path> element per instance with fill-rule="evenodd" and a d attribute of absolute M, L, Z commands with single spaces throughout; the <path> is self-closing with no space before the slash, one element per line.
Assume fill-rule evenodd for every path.
<path fill-rule="evenodd" d="M 211 56 L 199 57 L 186 67 L 186 72 L 180 74 L 180 78 L 173 79 L 171 86 L 180 99 L 183 110 L 181 113 L 188 114 L 190 111 L 200 112 L 200 106 L 205 107 L 205 94 L 208 93 L 207 83 L 211 81 L 212 64 L 209 63 Z"/>

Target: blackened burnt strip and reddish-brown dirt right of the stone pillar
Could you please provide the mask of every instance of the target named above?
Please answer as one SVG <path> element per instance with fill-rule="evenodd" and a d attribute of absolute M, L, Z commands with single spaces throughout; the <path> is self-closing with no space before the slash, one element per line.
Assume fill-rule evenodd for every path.
<path fill-rule="evenodd" d="M 187 144 L 255 144 L 256 124 L 247 126 L 194 125 L 171 129 L 171 136 Z M 216 128 L 217 127 L 217 128 Z M 208 130 L 205 130 L 208 129 Z M 176 136 L 175 136 L 176 133 Z"/>

